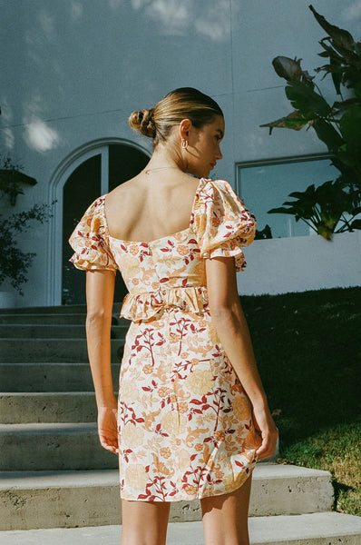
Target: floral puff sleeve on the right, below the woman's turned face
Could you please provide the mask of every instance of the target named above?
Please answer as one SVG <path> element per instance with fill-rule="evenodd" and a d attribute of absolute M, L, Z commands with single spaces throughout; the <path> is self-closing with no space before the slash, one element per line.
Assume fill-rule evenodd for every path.
<path fill-rule="evenodd" d="M 193 208 L 194 231 L 203 258 L 235 258 L 236 270 L 246 266 L 241 246 L 252 243 L 256 218 L 224 180 L 207 180 Z"/>

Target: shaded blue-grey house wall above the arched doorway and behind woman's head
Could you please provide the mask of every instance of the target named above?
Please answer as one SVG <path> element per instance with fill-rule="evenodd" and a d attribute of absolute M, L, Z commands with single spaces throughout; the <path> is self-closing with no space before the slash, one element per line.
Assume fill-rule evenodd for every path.
<path fill-rule="evenodd" d="M 151 151 L 128 116 L 179 86 L 198 87 L 223 108 L 224 159 L 215 175 L 230 183 L 239 161 L 326 151 L 311 132 L 269 137 L 259 128 L 290 110 L 272 58 L 297 55 L 308 70 L 321 61 L 317 41 L 325 33 L 308 3 L 0 0 L 0 153 L 38 181 L 15 210 L 49 202 L 59 164 L 88 142 L 117 137 Z M 313 5 L 359 37 L 359 0 Z M 36 225 L 24 236 L 37 256 L 19 306 L 49 300 L 49 229 Z"/>

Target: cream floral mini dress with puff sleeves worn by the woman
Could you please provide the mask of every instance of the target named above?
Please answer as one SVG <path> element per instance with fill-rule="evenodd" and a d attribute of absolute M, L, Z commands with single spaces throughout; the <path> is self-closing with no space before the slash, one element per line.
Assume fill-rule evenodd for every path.
<path fill-rule="evenodd" d="M 119 383 L 119 467 L 125 500 L 194 500 L 236 490 L 261 440 L 249 398 L 212 324 L 205 259 L 252 242 L 256 220 L 229 183 L 202 178 L 188 229 L 150 243 L 109 234 L 105 195 L 70 243 L 75 267 L 122 272 L 131 320 Z"/>

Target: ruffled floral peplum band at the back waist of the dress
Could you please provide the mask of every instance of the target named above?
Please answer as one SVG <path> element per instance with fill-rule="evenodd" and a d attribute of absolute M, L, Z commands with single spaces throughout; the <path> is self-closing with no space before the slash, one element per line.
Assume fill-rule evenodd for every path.
<path fill-rule="evenodd" d="M 121 318 L 132 322 L 147 321 L 165 310 L 203 314 L 208 308 L 206 286 L 171 287 L 155 292 L 128 293 L 122 303 Z"/>

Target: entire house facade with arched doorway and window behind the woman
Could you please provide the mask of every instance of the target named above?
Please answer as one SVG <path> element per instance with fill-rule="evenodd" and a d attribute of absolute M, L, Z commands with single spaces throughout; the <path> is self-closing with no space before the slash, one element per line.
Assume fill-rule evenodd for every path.
<path fill-rule="evenodd" d="M 313 5 L 359 37 L 360 1 Z M 269 136 L 259 127 L 291 109 L 272 59 L 302 57 L 310 72 L 320 64 L 317 42 L 325 33 L 307 6 L 308 0 L 0 0 L 0 155 L 22 163 L 37 180 L 14 209 L 0 203 L 1 212 L 53 203 L 49 222 L 35 223 L 20 240 L 36 257 L 15 306 L 83 302 L 84 274 L 68 264 L 67 239 L 93 199 L 139 172 L 151 155 L 151 141 L 132 132 L 129 114 L 180 86 L 197 87 L 219 102 L 226 134 L 212 177 L 228 180 L 259 215 L 259 229 L 269 223 L 279 239 L 247 249 L 249 264 L 257 254 L 259 270 L 269 243 L 285 249 L 290 238 L 310 236 L 288 217 L 266 214 L 291 191 L 334 175 L 327 149 L 312 131 Z M 322 88 L 332 94 L 327 80 Z M 359 250 L 358 233 L 351 234 Z M 239 291 L 323 287 L 305 286 L 299 273 L 282 290 L 279 274 L 280 287 L 257 274 L 254 267 L 241 273 Z M 331 284 L 359 283 L 357 274 L 338 276 Z"/>

